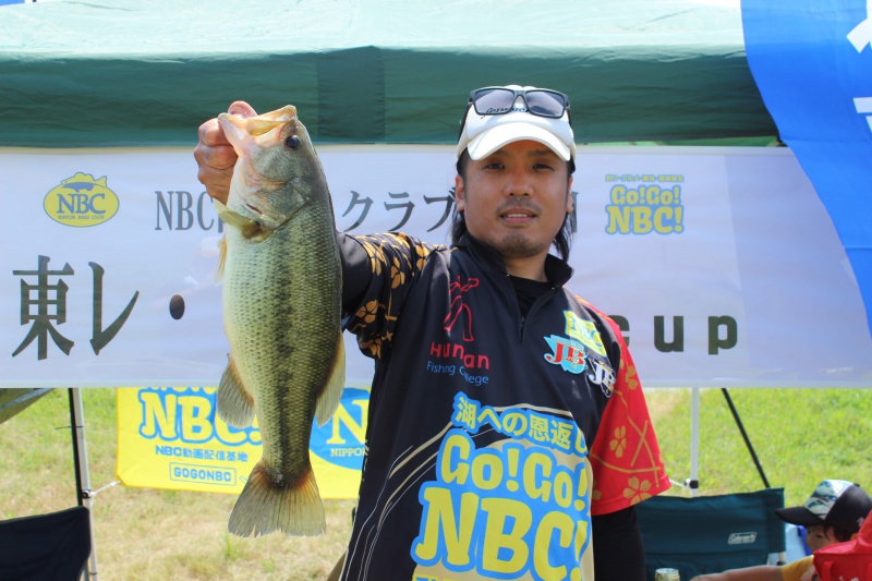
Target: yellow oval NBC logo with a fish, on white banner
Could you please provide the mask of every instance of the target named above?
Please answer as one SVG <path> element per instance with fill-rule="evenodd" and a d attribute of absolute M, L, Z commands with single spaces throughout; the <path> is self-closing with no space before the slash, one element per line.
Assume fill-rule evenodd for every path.
<path fill-rule="evenodd" d="M 106 186 L 106 177 L 95 180 L 80 171 L 46 194 L 43 207 L 58 223 L 86 228 L 112 218 L 118 213 L 118 196 Z"/>

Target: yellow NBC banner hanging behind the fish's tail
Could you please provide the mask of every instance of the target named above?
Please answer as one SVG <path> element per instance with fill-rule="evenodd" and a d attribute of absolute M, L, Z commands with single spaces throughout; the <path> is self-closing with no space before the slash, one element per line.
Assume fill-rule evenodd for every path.
<path fill-rule="evenodd" d="M 125 486 L 239 494 L 261 459 L 261 432 L 216 413 L 213 387 L 119 388 L 118 479 Z M 347 387 L 310 457 L 323 498 L 356 498 L 370 390 Z"/>

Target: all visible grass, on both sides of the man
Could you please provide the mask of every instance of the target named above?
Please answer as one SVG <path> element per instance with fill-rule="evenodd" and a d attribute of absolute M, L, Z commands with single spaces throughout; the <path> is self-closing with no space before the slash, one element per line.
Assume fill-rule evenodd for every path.
<path fill-rule="evenodd" d="M 690 475 L 690 390 L 647 390 L 670 476 Z M 872 489 L 872 390 L 730 391 L 772 486 L 800 504 L 823 479 Z M 116 480 L 116 391 L 83 390 L 92 488 Z M 723 395 L 701 391 L 700 494 L 763 487 Z M 76 504 L 66 390 L 55 390 L 0 424 L 0 518 Z M 673 487 L 668 494 L 687 496 Z M 94 500 L 99 578 L 324 579 L 344 550 L 351 500 L 327 500 L 327 534 L 313 538 L 228 535 L 235 496 L 116 486 Z"/>

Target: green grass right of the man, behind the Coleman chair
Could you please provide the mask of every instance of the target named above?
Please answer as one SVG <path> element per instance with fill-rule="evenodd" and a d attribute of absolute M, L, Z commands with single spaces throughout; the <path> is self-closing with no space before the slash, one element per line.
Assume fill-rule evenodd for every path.
<path fill-rule="evenodd" d="M 649 400 L 663 397 L 653 390 Z M 690 475 L 691 392 L 674 391 L 674 407 L 654 415 L 670 476 Z M 729 391 L 770 486 L 801 504 L 824 479 L 872 489 L 872 390 L 734 389 Z M 655 406 L 652 404 L 652 408 Z M 741 433 L 719 389 L 700 394 L 699 479 L 702 494 L 763 488 Z M 686 494 L 685 491 L 671 491 Z"/>

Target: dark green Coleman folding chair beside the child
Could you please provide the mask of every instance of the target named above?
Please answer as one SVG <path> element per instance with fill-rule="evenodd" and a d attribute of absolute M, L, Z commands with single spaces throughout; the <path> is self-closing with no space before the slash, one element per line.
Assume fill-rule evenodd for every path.
<path fill-rule="evenodd" d="M 682 581 L 702 573 L 766 565 L 784 553 L 784 488 L 681 498 L 655 496 L 637 505 L 649 581 L 663 567 Z"/>

